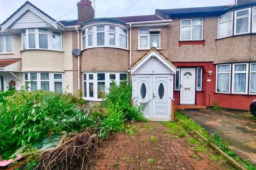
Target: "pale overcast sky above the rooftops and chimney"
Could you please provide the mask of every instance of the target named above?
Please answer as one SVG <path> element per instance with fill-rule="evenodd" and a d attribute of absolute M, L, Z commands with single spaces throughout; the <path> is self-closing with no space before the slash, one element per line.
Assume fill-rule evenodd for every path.
<path fill-rule="evenodd" d="M 55 20 L 77 19 L 79 0 L 30 0 Z M 26 0 L 0 0 L 0 23 L 7 19 Z M 154 14 L 155 9 L 228 5 L 233 0 L 95 0 L 96 17 L 114 17 Z M 63 16 L 63 17 L 62 17 Z M 60 19 L 59 19 L 60 18 Z"/>

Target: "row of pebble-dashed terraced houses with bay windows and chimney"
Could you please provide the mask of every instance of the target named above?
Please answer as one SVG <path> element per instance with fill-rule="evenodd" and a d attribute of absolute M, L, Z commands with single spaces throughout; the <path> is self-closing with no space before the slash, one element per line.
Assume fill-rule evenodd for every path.
<path fill-rule="evenodd" d="M 174 107 L 248 110 L 256 98 L 256 1 L 116 18 L 94 18 L 89 0 L 77 7 L 78 20 L 56 21 L 26 2 L 0 25 L 1 90 L 33 80 L 26 90 L 101 101 L 129 78 L 153 120 Z"/>

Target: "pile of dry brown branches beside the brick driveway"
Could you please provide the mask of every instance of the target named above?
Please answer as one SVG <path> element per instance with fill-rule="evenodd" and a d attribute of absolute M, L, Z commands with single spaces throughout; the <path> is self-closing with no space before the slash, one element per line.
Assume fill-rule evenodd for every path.
<path fill-rule="evenodd" d="M 43 152 L 36 169 L 89 169 L 97 151 L 97 129 L 87 129 L 68 138 L 59 147 Z"/>

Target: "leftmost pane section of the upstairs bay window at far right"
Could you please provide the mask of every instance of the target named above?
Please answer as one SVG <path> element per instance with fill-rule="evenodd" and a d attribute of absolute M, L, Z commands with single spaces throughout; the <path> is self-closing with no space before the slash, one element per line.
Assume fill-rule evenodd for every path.
<path fill-rule="evenodd" d="M 222 15 L 218 20 L 218 38 L 233 35 L 233 12 Z"/>

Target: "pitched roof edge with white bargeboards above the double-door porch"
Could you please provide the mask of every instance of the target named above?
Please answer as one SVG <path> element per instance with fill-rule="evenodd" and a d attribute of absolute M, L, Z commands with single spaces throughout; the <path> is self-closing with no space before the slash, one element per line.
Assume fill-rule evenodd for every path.
<path fill-rule="evenodd" d="M 143 55 L 136 63 L 134 63 L 129 71 L 133 74 L 136 70 L 140 68 L 144 63 L 146 63 L 151 57 L 156 57 L 160 62 L 162 62 L 168 69 L 170 69 L 173 74 L 176 73 L 177 68 L 165 57 L 162 53 L 158 52 L 155 47 L 152 47 L 145 55 Z"/>

